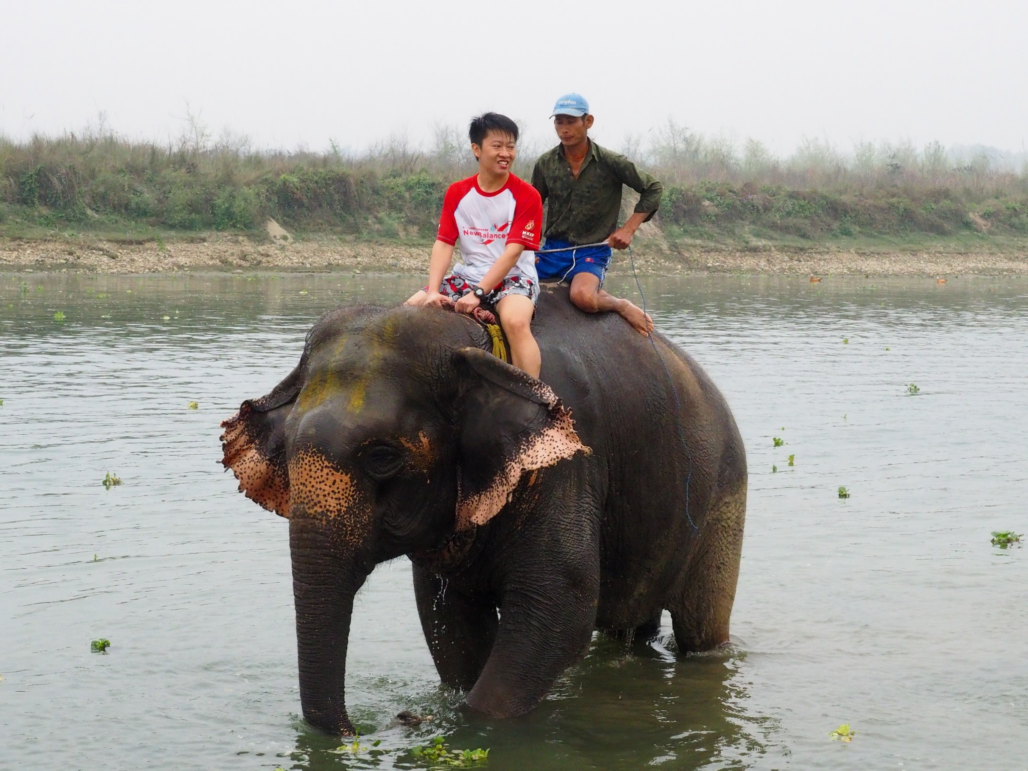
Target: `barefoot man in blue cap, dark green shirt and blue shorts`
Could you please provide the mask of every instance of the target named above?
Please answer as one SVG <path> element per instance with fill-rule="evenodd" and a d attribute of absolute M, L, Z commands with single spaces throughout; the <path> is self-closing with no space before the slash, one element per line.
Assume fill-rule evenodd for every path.
<path fill-rule="evenodd" d="M 653 321 L 630 300 L 603 291 L 611 249 L 627 249 L 635 230 L 653 218 L 663 187 L 619 155 L 589 139 L 593 116 L 578 94 L 557 100 L 553 124 L 560 144 L 536 161 L 531 184 L 546 204 L 546 244 L 537 254 L 540 281 L 571 284 L 572 302 L 582 310 L 616 310 L 641 334 L 653 331 Z M 622 185 L 639 193 L 635 212 L 618 227 Z M 585 246 L 600 244 L 600 246 Z"/>

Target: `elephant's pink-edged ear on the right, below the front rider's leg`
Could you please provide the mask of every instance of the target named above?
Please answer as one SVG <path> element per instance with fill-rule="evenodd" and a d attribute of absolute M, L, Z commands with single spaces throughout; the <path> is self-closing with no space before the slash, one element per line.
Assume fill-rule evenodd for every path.
<path fill-rule="evenodd" d="M 478 348 L 453 356 L 458 372 L 456 529 L 500 513 L 522 475 L 589 452 L 549 386 Z"/>

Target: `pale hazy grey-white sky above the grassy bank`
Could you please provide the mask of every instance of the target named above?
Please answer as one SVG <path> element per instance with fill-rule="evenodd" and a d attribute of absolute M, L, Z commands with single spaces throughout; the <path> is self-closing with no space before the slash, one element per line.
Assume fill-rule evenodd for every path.
<path fill-rule="evenodd" d="M 618 147 L 668 117 L 779 152 L 803 138 L 1028 144 L 1028 3 L 4 0 L 0 133 L 96 122 L 361 148 L 504 112 L 549 144 L 579 90 Z"/>

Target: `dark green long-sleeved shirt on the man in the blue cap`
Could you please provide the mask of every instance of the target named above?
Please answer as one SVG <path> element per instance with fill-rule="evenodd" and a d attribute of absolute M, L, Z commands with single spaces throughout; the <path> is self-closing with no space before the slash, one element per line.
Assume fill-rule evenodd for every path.
<path fill-rule="evenodd" d="M 547 238 L 572 244 L 597 244 L 618 229 L 622 185 L 640 194 L 636 212 L 647 213 L 649 222 L 660 207 L 663 186 L 639 171 L 624 155 L 589 141 L 578 179 L 564 158 L 562 145 L 539 156 L 531 184 L 546 204 Z"/>

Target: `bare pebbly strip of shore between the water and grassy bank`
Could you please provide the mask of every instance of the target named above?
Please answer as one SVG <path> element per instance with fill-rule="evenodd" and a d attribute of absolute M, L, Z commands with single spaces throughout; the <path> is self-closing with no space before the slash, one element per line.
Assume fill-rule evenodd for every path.
<path fill-rule="evenodd" d="M 634 250 L 641 276 L 747 273 L 780 276 L 1028 276 L 1028 245 L 990 248 L 943 245 L 923 249 L 668 244 L 642 238 Z M 0 270 L 149 273 L 176 270 L 338 270 L 421 273 L 431 245 L 344 241 L 337 237 L 255 238 L 196 234 L 180 238 L 0 238 Z M 626 252 L 615 255 L 611 274 L 630 273 Z"/>

